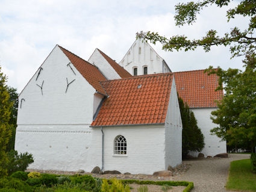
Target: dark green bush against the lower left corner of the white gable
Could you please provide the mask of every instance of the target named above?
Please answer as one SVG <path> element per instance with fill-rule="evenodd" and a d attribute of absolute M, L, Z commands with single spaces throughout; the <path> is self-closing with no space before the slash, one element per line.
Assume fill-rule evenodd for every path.
<path fill-rule="evenodd" d="M 28 152 L 18 155 L 16 150 L 11 150 L 7 153 L 8 161 L 5 163 L 5 169 L 8 170 L 8 175 L 17 171 L 25 171 L 29 164 L 33 163 L 33 156 Z"/>

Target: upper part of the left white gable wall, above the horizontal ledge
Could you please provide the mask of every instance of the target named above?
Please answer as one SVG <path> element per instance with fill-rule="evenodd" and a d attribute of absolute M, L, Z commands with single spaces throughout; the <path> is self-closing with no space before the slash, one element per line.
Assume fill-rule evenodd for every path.
<path fill-rule="evenodd" d="M 95 88 L 71 64 L 58 46 L 42 64 L 37 73 L 19 95 L 17 125 L 90 124 L 93 120 L 93 94 Z M 75 79 L 67 87 L 68 82 Z M 43 82 L 44 81 L 44 82 Z M 43 82 L 43 95 L 40 87 Z M 22 108 L 20 108 L 21 99 Z"/>

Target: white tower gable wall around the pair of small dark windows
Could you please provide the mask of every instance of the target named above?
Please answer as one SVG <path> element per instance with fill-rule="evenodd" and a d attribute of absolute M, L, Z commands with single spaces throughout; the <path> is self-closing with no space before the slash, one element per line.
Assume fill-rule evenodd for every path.
<path fill-rule="evenodd" d="M 140 39 L 133 43 L 119 64 L 131 75 L 134 75 L 134 67 L 137 67 L 137 75 L 143 75 L 143 67 L 145 66 L 148 67 L 148 74 L 170 72 L 166 65 L 163 66 L 163 58 L 154 51 L 149 43 L 142 42 Z"/>

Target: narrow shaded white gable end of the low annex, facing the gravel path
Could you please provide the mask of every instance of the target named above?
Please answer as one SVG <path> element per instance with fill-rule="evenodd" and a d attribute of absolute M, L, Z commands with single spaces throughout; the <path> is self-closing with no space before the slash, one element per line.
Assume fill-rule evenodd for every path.
<path fill-rule="evenodd" d="M 168 166 L 176 167 L 182 162 L 182 122 L 175 79 L 172 89 L 165 122 L 165 169 Z"/>

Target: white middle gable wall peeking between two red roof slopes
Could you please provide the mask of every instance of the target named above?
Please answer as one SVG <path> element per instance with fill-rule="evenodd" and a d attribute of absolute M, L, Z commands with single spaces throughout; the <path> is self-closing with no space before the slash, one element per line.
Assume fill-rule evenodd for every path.
<path fill-rule="evenodd" d="M 97 66 L 107 79 L 120 79 L 116 70 L 113 69 L 98 49 L 95 49 L 88 62 Z"/>

